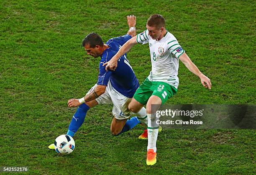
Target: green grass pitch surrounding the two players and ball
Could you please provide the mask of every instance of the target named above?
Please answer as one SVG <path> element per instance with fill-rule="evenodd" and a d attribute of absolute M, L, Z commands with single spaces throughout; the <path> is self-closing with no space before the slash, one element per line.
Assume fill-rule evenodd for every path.
<path fill-rule="evenodd" d="M 158 162 L 146 166 L 146 140 L 136 126 L 114 137 L 112 105 L 89 110 L 75 135 L 76 148 L 59 156 L 47 146 L 67 132 L 81 98 L 97 82 L 99 58 L 87 56 L 85 35 L 104 42 L 126 34 L 126 15 L 137 32 L 159 13 L 212 90 L 180 63 L 179 91 L 167 104 L 255 104 L 255 1 L 57 1 L 0 2 L 0 167 L 30 174 L 256 174 L 255 130 L 163 130 Z M 142 82 L 151 70 L 148 45 L 128 53 Z"/>

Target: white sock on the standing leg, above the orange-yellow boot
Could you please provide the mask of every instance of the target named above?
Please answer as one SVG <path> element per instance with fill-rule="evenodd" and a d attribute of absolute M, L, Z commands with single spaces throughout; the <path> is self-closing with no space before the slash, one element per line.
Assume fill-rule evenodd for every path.
<path fill-rule="evenodd" d="M 156 152 L 156 140 L 158 136 L 159 125 L 156 123 L 158 118 L 156 114 L 148 114 L 148 148 L 153 149 Z"/>

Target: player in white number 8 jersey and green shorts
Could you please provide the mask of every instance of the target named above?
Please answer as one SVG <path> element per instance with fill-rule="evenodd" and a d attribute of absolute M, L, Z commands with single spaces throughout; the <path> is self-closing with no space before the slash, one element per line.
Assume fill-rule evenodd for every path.
<path fill-rule="evenodd" d="M 156 140 L 159 125 L 156 123 L 156 111 L 170 97 L 177 93 L 179 85 L 178 69 L 179 60 L 192 73 L 200 77 L 205 88 L 211 89 L 210 79 L 202 74 L 197 66 L 189 59 L 188 55 L 179 45 L 177 39 L 165 29 L 165 19 L 162 15 L 154 14 L 148 18 L 146 30 L 126 42 L 116 55 L 106 62 L 106 70 L 115 70 L 118 58 L 124 55 L 137 43 L 149 45 L 152 70 L 146 80 L 135 92 L 129 110 L 138 112 L 146 105 L 148 117 L 148 153 L 147 165 L 156 163 Z"/>

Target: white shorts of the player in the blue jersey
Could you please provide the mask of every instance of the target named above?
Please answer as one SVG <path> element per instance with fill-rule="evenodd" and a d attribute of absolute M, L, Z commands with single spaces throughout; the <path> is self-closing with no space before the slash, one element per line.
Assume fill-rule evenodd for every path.
<path fill-rule="evenodd" d="M 92 92 L 96 86 L 97 84 L 95 84 L 87 94 Z M 106 87 L 104 94 L 100 95 L 100 97 L 97 97 L 95 100 L 98 104 L 113 104 L 112 113 L 118 120 L 127 119 L 131 116 L 131 111 L 128 109 L 131 98 L 125 97 L 115 90 L 110 81 L 108 81 L 108 86 Z"/>

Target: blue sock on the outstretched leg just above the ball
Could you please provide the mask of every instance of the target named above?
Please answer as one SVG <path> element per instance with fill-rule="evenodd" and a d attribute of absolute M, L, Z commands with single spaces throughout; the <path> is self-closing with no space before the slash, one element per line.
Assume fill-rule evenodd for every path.
<path fill-rule="evenodd" d="M 70 135 L 71 137 L 74 137 L 74 134 L 77 132 L 77 130 L 82 126 L 84 122 L 84 118 L 86 116 L 87 110 L 89 110 L 90 107 L 87 106 L 85 103 L 80 105 L 77 108 L 77 112 L 73 115 L 73 118 L 69 125 L 69 130 L 67 132 L 67 135 Z"/>

